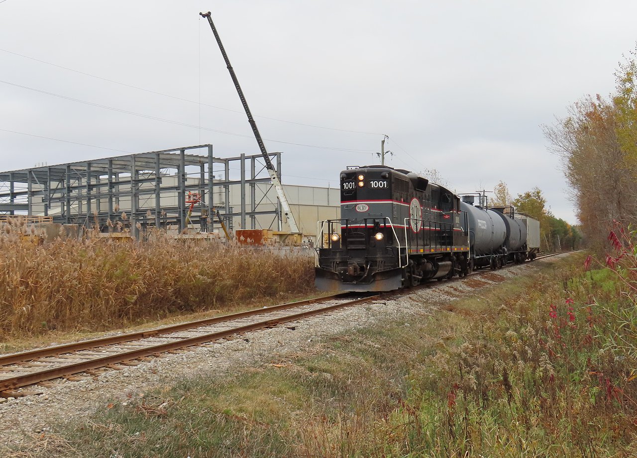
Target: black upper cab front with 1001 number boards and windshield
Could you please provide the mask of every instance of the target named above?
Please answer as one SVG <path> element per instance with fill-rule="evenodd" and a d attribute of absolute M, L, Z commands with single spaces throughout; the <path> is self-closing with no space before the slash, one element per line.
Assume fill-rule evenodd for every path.
<path fill-rule="evenodd" d="M 341 202 L 390 197 L 391 183 L 386 170 L 356 169 L 341 174 Z"/>

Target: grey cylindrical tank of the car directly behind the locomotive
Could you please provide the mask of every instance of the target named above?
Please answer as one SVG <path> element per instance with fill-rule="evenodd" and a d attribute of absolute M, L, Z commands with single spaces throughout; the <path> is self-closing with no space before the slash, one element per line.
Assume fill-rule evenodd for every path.
<path fill-rule="evenodd" d="M 460 209 L 469 218 L 469 244 L 474 256 L 494 254 L 505 243 L 506 226 L 497 212 L 475 207 L 464 200 Z"/>

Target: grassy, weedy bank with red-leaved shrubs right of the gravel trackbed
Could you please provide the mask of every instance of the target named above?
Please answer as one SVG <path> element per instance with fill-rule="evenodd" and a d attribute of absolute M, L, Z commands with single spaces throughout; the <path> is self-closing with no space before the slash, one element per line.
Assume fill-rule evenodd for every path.
<path fill-rule="evenodd" d="M 634 277 L 582 261 L 318 352 L 104 406 L 32 445 L 87 457 L 628 456 Z"/>

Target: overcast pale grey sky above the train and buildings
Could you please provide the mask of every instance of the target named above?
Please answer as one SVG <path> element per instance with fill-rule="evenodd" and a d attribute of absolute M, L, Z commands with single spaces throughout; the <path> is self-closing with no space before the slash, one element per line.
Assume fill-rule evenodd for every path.
<path fill-rule="evenodd" d="M 571 223 L 540 125 L 610 94 L 637 39 L 635 1 L 0 0 L 0 170 L 202 143 L 258 153 L 208 10 L 284 183 L 336 186 L 378 163 L 387 134 L 389 165 L 437 169 L 459 192 L 539 186 Z"/>

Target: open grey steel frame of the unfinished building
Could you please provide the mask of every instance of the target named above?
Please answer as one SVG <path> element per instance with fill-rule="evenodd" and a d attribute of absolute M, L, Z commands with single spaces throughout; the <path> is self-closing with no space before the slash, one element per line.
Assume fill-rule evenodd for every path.
<path fill-rule="evenodd" d="M 202 149 L 205 155 L 194 153 Z M 269 156 L 276 159 L 280 179 L 281 153 Z M 233 167 L 237 163 L 238 167 Z M 215 164 L 222 167 L 215 170 Z M 231 169 L 237 168 L 240 179 L 231 179 Z M 176 170 L 176 174 L 171 175 L 166 169 Z M 195 171 L 188 173 L 187 169 Z M 233 217 L 238 216 L 242 228 L 247 228 L 249 217 L 254 229 L 257 215 L 271 214 L 280 228 L 280 204 L 272 202 L 266 207 L 267 202 L 255 201 L 256 185 L 270 182 L 264 171 L 267 172 L 260 154 L 218 158 L 213 156 L 211 144 L 40 165 L 0 172 L 0 214 L 51 216 L 54 223 L 86 227 L 97 224 L 101 230 L 106 230 L 108 221 L 119 219 L 139 237 L 139 228 L 145 232 L 153 226 L 172 225 L 183 230 L 189 207 L 186 200 L 192 192 L 203 197 L 190 216 L 191 223 L 201 230 L 214 229 L 215 220 L 209 215 L 213 215 L 215 208 L 229 227 L 233 225 Z M 220 175 L 215 178 L 215 174 Z M 239 211 L 234 211 L 229 202 L 233 185 L 240 186 Z M 169 204 L 166 200 L 170 200 Z M 124 221 L 120 219 L 122 209 L 127 214 Z"/>

